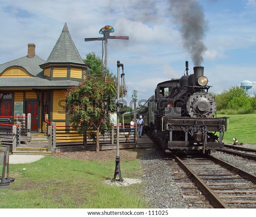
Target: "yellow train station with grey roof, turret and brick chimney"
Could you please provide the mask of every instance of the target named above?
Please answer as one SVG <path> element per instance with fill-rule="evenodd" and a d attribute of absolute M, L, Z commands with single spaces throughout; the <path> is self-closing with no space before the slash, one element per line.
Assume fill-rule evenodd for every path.
<path fill-rule="evenodd" d="M 32 114 L 32 131 L 44 131 L 44 114 L 59 126 L 67 126 L 64 91 L 86 78 L 84 64 L 64 24 L 45 61 L 28 44 L 28 54 L 0 65 L 0 116 Z"/>

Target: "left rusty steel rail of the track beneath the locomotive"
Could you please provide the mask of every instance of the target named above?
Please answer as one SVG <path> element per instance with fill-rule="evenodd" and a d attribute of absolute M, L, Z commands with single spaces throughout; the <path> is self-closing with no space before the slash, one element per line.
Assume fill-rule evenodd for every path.
<path fill-rule="evenodd" d="M 172 157 L 177 161 L 180 167 L 188 172 L 196 185 L 204 192 L 206 197 L 216 206 L 216 208 L 229 208 L 179 157 L 172 154 Z"/>

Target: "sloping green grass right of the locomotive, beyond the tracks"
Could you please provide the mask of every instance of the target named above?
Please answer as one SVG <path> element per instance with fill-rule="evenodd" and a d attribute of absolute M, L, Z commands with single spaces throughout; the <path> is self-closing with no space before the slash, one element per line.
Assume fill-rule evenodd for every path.
<path fill-rule="evenodd" d="M 236 138 L 239 143 L 256 144 L 256 114 L 218 114 L 217 117 L 229 117 L 225 143 L 233 144 Z"/>

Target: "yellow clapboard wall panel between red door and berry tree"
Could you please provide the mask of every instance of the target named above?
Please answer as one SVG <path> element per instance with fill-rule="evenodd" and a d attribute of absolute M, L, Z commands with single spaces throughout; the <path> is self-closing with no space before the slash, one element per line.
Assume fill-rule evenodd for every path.
<path fill-rule="evenodd" d="M 52 100 L 52 119 L 65 120 L 66 111 L 63 108 L 66 105 L 64 91 L 53 91 Z"/>

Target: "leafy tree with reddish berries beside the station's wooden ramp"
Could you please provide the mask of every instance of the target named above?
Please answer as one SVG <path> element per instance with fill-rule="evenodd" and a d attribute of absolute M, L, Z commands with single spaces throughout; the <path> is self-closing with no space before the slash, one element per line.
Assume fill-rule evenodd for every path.
<path fill-rule="evenodd" d="M 89 53 L 87 58 L 84 62 L 92 66 L 88 71 L 87 79 L 66 91 L 67 105 L 70 105 L 68 120 L 72 129 L 79 134 L 84 134 L 89 129 L 94 130 L 91 137 L 96 140 L 98 152 L 99 133 L 105 133 L 112 127 L 108 111 L 115 110 L 117 84 L 116 78 L 110 73 L 105 81 L 102 71 L 99 70 L 101 69 L 99 57 Z"/>

